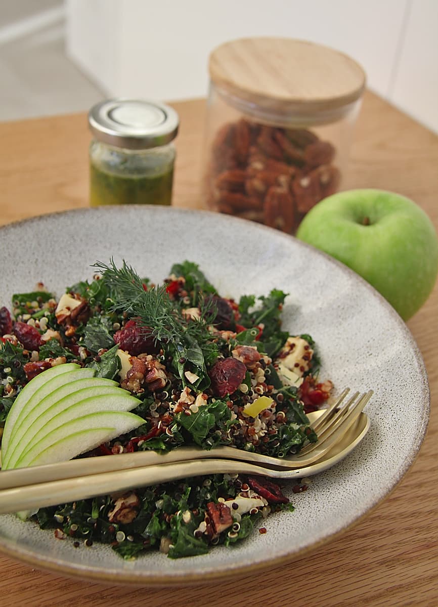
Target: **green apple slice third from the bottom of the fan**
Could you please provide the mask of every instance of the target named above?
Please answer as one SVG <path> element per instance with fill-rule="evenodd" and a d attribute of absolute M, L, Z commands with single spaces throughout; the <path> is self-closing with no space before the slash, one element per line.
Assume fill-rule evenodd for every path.
<path fill-rule="evenodd" d="M 130 411 L 140 404 L 129 392 L 113 384 L 115 382 L 110 379 L 78 379 L 42 399 L 25 420 L 27 430 L 17 441 L 15 435 L 10 440 L 8 451 L 12 454 L 7 460 L 6 468 L 13 468 L 33 444 L 70 419 L 93 411 Z M 69 389 L 72 391 L 70 394 Z"/>

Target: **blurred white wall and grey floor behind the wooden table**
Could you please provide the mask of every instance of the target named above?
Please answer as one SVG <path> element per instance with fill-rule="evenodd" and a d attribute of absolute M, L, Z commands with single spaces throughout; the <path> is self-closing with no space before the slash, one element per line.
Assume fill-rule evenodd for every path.
<path fill-rule="evenodd" d="M 107 97 L 204 97 L 209 53 L 286 36 L 348 53 L 368 87 L 438 132 L 438 0 L 0 0 L 0 120 Z"/>

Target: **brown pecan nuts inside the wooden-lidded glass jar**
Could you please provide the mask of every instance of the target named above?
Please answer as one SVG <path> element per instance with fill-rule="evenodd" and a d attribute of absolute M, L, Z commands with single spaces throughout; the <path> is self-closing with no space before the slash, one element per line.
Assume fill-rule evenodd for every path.
<path fill-rule="evenodd" d="M 312 206 L 339 188 L 336 151 L 307 129 L 246 118 L 221 126 L 207 174 L 211 208 L 293 233 Z"/>

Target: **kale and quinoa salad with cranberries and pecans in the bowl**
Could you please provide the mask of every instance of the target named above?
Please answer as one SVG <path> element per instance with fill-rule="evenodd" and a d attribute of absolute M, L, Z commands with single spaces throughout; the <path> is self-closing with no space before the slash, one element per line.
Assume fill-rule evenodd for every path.
<path fill-rule="evenodd" d="M 91 280 L 56 297 L 42 283 L 0 308 L 0 436 L 22 388 L 56 365 L 94 370 L 135 396 L 140 427 L 79 458 L 180 446 L 226 445 L 275 457 L 317 441 L 307 413 L 329 398 L 311 336 L 281 327 L 287 296 L 217 293 L 199 266 L 175 263 L 160 285 L 123 262 L 96 262 Z M 294 484 L 294 493 L 307 489 Z M 123 558 L 160 550 L 206 554 L 293 510 L 262 476 L 215 474 L 44 507 L 27 516 L 77 548 L 94 542 Z"/>

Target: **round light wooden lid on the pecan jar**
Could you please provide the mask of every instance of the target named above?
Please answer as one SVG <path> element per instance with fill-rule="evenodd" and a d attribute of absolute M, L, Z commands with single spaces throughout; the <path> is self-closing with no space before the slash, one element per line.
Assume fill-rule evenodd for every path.
<path fill-rule="evenodd" d="M 339 113 L 357 101 L 365 72 L 349 56 L 288 38 L 242 38 L 217 47 L 212 82 L 233 97 L 280 114 Z"/>

